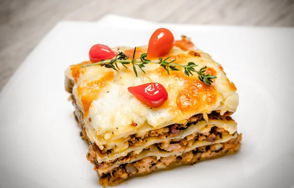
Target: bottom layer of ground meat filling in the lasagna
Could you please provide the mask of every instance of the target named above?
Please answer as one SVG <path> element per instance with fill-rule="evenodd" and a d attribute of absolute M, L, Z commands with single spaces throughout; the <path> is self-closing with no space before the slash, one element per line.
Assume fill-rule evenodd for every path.
<path fill-rule="evenodd" d="M 224 143 L 198 147 L 180 156 L 169 156 L 157 159 L 146 157 L 134 163 L 121 164 L 108 173 L 99 175 L 102 186 L 114 186 L 134 175 L 145 175 L 155 170 L 173 168 L 180 164 L 196 164 L 197 162 L 221 157 L 225 154 L 236 153 L 240 146 L 242 135 Z"/>

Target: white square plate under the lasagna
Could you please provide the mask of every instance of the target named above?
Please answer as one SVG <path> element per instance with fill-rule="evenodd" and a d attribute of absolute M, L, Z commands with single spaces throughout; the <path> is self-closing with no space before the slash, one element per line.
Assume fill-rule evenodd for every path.
<path fill-rule="evenodd" d="M 236 155 L 132 178 L 119 187 L 292 186 L 294 29 L 166 26 L 176 39 L 185 34 L 210 53 L 237 86 L 240 105 L 233 116 L 242 147 Z M 154 29 L 62 22 L 49 32 L 0 94 L 0 187 L 99 187 L 64 91 L 64 70 L 87 60 L 97 43 L 146 45 Z"/>

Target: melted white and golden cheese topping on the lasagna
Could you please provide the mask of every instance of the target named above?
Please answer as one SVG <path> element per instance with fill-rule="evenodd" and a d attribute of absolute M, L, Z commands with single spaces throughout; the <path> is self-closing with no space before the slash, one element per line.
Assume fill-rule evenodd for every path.
<path fill-rule="evenodd" d="M 115 51 L 132 54 L 132 48 L 118 47 Z M 136 57 L 147 51 L 147 47 L 137 48 Z M 129 54 L 130 53 L 130 54 Z M 209 54 L 201 50 L 185 51 L 174 47 L 165 57 L 176 59 L 174 63 L 186 65 L 194 62 L 196 70 L 207 66 L 206 73 L 217 76 L 211 86 L 198 79 L 197 73 L 186 76 L 180 71 L 170 71 L 170 75 L 157 64 L 145 65 L 145 71 L 137 69 L 135 76 L 131 65 L 114 71 L 100 66 L 80 68 L 73 65 L 66 76 L 75 83 L 73 95 L 78 108 L 84 113 L 87 135 L 98 146 L 114 138 L 123 138 L 144 129 L 157 129 L 174 123 L 187 123 L 187 119 L 199 114 L 220 110 L 235 112 L 239 96 L 235 85 L 228 80 L 222 67 Z M 163 58 L 165 58 L 163 57 Z M 155 60 L 155 59 L 154 59 Z M 83 62 L 82 64 L 90 63 Z M 161 107 L 150 108 L 127 91 L 130 86 L 149 82 L 162 84 L 169 98 Z"/>

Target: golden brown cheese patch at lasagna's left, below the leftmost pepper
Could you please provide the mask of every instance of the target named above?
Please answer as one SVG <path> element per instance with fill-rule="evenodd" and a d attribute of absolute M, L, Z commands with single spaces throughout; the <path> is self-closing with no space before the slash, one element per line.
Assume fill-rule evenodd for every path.
<path fill-rule="evenodd" d="M 86 83 L 86 86 L 76 88 L 77 95 L 81 99 L 84 108 L 84 118 L 89 114 L 89 108 L 93 100 L 95 100 L 102 88 L 113 79 L 113 71 L 108 71 L 101 79 L 93 80 Z"/>

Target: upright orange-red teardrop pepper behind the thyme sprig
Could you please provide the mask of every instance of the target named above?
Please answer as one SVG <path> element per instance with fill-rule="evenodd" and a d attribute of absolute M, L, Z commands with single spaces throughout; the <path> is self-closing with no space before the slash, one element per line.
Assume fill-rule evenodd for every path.
<path fill-rule="evenodd" d="M 149 40 L 148 57 L 160 57 L 169 53 L 172 50 L 173 44 L 174 38 L 169 29 L 157 29 Z"/>

